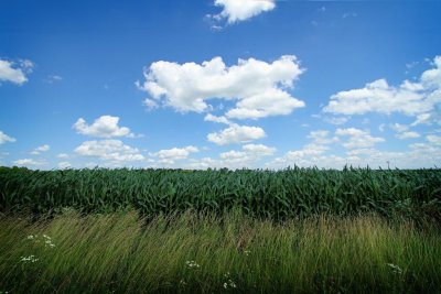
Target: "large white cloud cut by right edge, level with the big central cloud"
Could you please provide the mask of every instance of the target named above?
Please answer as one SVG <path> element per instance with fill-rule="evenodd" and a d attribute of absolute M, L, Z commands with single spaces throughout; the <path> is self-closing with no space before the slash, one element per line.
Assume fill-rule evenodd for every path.
<path fill-rule="evenodd" d="M 402 81 L 398 87 L 390 86 L 386 79 L 366 84 L 364 88 L 340 91 L 331 96 L 324 112 L 340 115 L 364 115 L 367 112 L 399 112 L 419 123 L 437 121 L 441 123 L 441 56 L 433 59 L 433 68 L 422 73 L 417 81 Z"/>

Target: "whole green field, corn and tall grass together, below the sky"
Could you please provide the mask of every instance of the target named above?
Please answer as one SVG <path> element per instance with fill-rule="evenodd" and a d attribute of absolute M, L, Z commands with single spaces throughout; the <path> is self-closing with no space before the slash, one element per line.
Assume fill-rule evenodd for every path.
<path fill-rule="evenodd" d="M 441 293 L 441 171 L 0 167 L 0 293 Z"/>

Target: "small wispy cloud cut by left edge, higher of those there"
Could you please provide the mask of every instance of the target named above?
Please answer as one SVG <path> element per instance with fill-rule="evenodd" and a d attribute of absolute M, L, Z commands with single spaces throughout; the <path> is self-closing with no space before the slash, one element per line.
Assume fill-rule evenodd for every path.
<path fill-rule="evenodd" d="M 32 72 L 33 66 L 33 63 L 26 59 L 20 59 L 19 64 L 0 59 L 0 81 L 23 85 L 28 81 L 26 74 Z"/>

